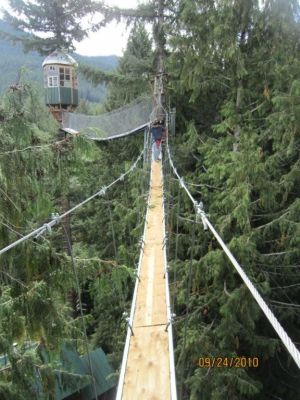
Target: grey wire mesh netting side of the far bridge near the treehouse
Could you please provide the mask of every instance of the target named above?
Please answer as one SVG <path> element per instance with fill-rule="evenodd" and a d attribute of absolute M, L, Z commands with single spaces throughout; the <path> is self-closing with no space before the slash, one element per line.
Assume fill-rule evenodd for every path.
<path fill-rule="evenodd" d="M 109 140 L 145 127 L 150 120 L 152 100 L 141 97 L 134 102 L 101 115 L 85 115 L 64 111 L 62 128 L 67 132 L 81 132 L 93 140 Z"/>

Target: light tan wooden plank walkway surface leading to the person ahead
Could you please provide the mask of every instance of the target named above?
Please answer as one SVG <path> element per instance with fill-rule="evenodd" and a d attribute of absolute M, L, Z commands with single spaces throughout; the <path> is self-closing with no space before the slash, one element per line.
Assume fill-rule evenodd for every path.
<path fill-rule="evenodd" d="M 170 360 L 163 250 L 161 163 L 152 162 L 144 253 L 141 261 L 134 336 L 130 338 L 123 400 L 170 400 Z M 172 350 L 171 350 L 172 351 Z"/>

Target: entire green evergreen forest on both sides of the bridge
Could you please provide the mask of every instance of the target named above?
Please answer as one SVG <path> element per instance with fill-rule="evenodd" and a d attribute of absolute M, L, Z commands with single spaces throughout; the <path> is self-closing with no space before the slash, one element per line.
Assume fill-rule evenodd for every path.
<path fill-rule="evenodd" d="M 35 11 L 42 12 L 41 3 Z M 74 18 L 90 10 L 81 3 Z M 163 75 L 166 105 L 176 108 L 176 133 L 169 137 L 176 167 L 299 348 L 299 2 L 152 0 L 136 10 L 95 7 L 103 13 L 95 29 L 112 19 L 132 24 L 113 74 L 82 68 L 91 81 L 107 85 L 101 109 L 151 93 L 155 75 Z M 29 23 L 34 14 L 27 11 Z M 64 30 L 59 35 L 71 46 Z M 143 135 L 101 145 L 59 136 L 41 94 L 22 80 L 2 97 L 0 121 L 1 248 L 113 181 L 144 145 Z M 37 398 L 53 395 L 65 343 L 80 354 L 102 347 L 119 371 L 147 171 L 140 165 L 128 181 L 82 208 L 67 234 L 62 225 L 0 256 L 0 354 L 10 363 L 0 369 L 1 399 L 35 396 L 36 371 L 42 377 Z M 213 235 L 194 223 L 193 205 L 167 158 L 164 174 L 179 399 L 300 397 L 299 369 Z M 28 351 L 28 342 L 37 348 Z M 257 357 L 259 366 L 200 368 L 195 362 L 242 356 Z M 71 378 L 66 375 L 66 384 L 74 384 Z"/>

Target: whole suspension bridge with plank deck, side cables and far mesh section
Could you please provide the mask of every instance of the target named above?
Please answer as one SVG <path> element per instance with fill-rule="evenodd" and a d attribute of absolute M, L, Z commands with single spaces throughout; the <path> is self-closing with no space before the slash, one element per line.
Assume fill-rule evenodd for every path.
<path fill-rule="evenodd" d="M 96 193 L 72 209 L 62 215 L 54 215 L 51 221 L 0 250 L 1 256 L 22 242 L 51 231 L 66 215 L 75 212 L 95 197 L 104 195 L 110 187 L 123 181 L 128 174 L 133 173 L 142 158 L 144 164 L 151 164 L 146 222 L 141 240 L 131 311 L 126 318 L 127 336 L 117 388 L 117 400 L 177 399 L 172 332 L 173 310 L 170 305 L 166 256 L 164 176 L 161 163 L 151 163 L 149 160 L 149 120 L 151 122 L 149 114 L 151 114 L 151 102 L 150 99 L 146 98 L 139 99 L 133 105 L 108 115 L 90 117 L 64 112 L 62 129 L 68 133 L 81 132 L 91 140 L 103 141 L 144 132 L 144 149 L 132 166 L 110 185 L 99 188 Z M 167 115 L 168 120 L 169 115 Z M 114 127 L 112 121 L 120 121 L 119 126 Z M 174 126 L 174 124 L 171 123 L 171 126 Z M 168 139 L 166 141 L 164 161 L 168 163 L 180 187 L 190 199 L 197 221 L 202 223 L 203 228 L 209 230 L 218 241 L 220 247 L 278 334 L 291 358 L 300 368 L 299 350 L 223 242 L 208 219 L 203 204 L 194 199 L 184 179 L 179 175 L 173 162 Z"/>

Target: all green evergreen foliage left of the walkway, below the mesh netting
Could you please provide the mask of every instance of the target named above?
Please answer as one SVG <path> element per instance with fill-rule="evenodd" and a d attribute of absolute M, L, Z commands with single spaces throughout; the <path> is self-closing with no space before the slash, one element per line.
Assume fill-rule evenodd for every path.
<path fill-rule="evenodd" d="M 125 160 L 136 157 L 142 144 L 140 138 L 125 141 L 111 167 L 118 144 L 97 148 L 80 136 L 57 139 L 57 124 L 37 91 L 22 80 L 3 98 L 1 121 L 1 248 L 42 225 L 52 212 L 60 213 L 62 196 L 68 196 L 72 206 L 110 183 L 128 168 Z M 121 316 L 130 305 L 145 212 L 143 178 L 141 170 L 106 195 L 112 199 L 112 218 L 109 198 L 99 198 L 72 217 L 75 265 L 66 253 L 62 227 L 1 256 L 0 354 L 8 362 L 0 370 L 1 398 L 49 398 L 58 382 L 57 371 L 66 387 L 76 388 L 79 379 L 86 379 L 60 365 L 66 343 L 86 352 L 81 316 L 72 311 L 78 300 L 74 268 L 83 289 L 89 334 L 95 332 L 94 345 L 111 352 L 118 367 L 125 331 Z M 113 340 L 107 334 L 112 328 Z"/>

